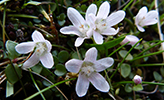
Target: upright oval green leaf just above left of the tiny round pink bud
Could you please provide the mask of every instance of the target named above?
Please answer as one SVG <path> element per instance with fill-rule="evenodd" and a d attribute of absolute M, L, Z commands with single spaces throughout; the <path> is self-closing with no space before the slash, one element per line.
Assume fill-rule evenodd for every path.
<path fill-rule="evenodd" d="M 131 67 L 129 64 L 123 63 L 121 65 L 121 75 L 126 78 L 131 73 Z"/>

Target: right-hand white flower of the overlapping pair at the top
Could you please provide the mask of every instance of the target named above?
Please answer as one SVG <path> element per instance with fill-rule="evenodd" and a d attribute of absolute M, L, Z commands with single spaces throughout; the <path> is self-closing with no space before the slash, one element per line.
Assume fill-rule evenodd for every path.
<path fill-rule="evenodd" d="M 86 21 L 89 22 L 90 27 L 92 27 L 92 34 L 95 42 L 97 44 L 103 43 L 102 35 L 116 35 L 119 28 L 115 30 L 112 26 L 121 22 L 125 17 L 125 12 L 119 10 L 108 16 L 110 12 L 110 5 L 106 1 L 100 5 L 97 12 L 97 6 L 91 4 L 86 11 Z"/>

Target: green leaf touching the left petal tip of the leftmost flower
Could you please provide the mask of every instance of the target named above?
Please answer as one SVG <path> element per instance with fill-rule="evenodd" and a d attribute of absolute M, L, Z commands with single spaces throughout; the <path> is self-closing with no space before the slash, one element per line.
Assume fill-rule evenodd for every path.
<path fill-rule="evenodd" d="M 14 41 L 11 41 L 11 40 L 8 40 L 6 42 L 6 49 L 8 51 L 8 57 L 10 59 L 14 59 L 14 58 L 17 58 L 18 56 L 20 56 L 19 53 L 16 52 L 15 50 L 15 46 L 17 45 L 18 43 L 14 42 Z"/>

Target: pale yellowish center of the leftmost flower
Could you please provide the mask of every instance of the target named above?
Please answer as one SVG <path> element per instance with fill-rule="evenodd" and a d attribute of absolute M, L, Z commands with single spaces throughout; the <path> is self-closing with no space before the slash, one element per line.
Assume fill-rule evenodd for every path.
<path fill-rule="evenodd" d="M 39 57 L 44 55 L 48 49 L 45 42 L 37 42 L 35 48 L 36 55 Z"/>

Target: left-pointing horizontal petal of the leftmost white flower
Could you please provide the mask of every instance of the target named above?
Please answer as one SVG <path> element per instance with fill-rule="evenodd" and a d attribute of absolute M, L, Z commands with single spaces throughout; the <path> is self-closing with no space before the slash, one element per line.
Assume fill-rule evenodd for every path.
<path fill-rule="evenodd" d="M 23 42 L 15 46 L 15 50 L 20 54 L 32 52 L 35 47 L 35 42 Z"/>

